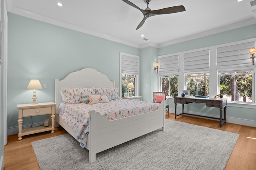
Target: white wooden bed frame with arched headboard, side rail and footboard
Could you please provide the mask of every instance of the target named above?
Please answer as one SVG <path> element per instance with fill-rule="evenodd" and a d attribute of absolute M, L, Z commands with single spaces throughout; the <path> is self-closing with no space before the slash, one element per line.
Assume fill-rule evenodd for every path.
<path fill-rule="evenodd" d="M 77 87 L 115 87 L 115 81 L 95 69 L 85 68 L 70 73 L 63 80 L 55 79 L 56 111 L 62 102 L 60 89 Z M 89 112 L 89 133 L 85 148 L 89 150 L 89 161 L 96 161 L 96 153 L 102 152 L 154 130 L 165 130 L 165 101 L 158 110 L 123 119 L 108 121 L 95 111 Z M 56 114 L 56 127 L 62 126 L 76 138 L 76 132 Z"/>

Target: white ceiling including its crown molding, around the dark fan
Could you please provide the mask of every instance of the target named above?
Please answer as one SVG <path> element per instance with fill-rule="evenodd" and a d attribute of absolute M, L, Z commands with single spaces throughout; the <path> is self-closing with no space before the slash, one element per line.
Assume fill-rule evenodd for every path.
<path fill-rule="evenodd" d="M 183 5 L 186 11 L 152 16 L 138 30 L 142 13 L 122 0 L 6 0 L 6 4 L 14 14 L 142 48 L 164 47 L 256 24 L 256 6 L 250 1 L 152 0 L 151 10 Z M 130 2 L 146 8 L 144 0 Z"/>

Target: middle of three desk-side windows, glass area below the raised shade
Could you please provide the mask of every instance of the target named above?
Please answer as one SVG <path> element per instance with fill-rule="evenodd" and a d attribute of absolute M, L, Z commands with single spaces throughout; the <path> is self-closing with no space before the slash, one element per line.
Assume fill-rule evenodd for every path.
<path fill-rule="evenodd" d="M 209 93 L 209 73 L 186 74 L 186 89 L 190 90 L 190 95 L 208 96 Z"/>

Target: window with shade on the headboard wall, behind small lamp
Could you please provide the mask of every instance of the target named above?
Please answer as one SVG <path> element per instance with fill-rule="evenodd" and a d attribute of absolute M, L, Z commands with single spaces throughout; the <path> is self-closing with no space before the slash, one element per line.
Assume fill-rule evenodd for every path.
<path fill-rule="evenodd" d="M 131 89 L 132 95 L 139 95 L 139 57 L 135 55 L 120 53 L 120 89 L 122 93 L 120 95 L 124 96 L 124 93 L 129 94 L 129 89 L 127 88 L 128 83 L 134 84 L 134 89 Z"/>

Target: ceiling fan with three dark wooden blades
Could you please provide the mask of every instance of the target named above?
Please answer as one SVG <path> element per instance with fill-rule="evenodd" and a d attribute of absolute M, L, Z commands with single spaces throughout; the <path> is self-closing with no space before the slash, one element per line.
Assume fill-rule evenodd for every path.
<path fill-rule="evenodd" d="M 122 0 L 122 1 L 124 1 L 126 4 L 128 4 L 128 5 L 130 5 L 134 8 L 137 8 L 144 15 L 143 20 L 140 22 L 140 24 L 138 25 L 136 30 L 138 30 L 144 24 L 145 20 L 147 18 L 149 18 L 150 16 L 161 15 L 161 14 L 172 14 L 172 13 L 182 12 L 182 11 L 186 10 L 183 5 L 180 5 L 180 6 L 172 6 L 172 7 L 169 7 L 169 8 L 163 8 L 163 9 L 160 9 L 160 10 L 153 10 L 152 11 L 150 8 L 148 8 L 148 4 L 151 2 L 151 0 L 144 0 L 144 2 L 147 4 L 147 8 L 145 10 L 142 10 L 138 6 L 134 5 L 132 2 L 130 2 L 128 0 Z"/>

